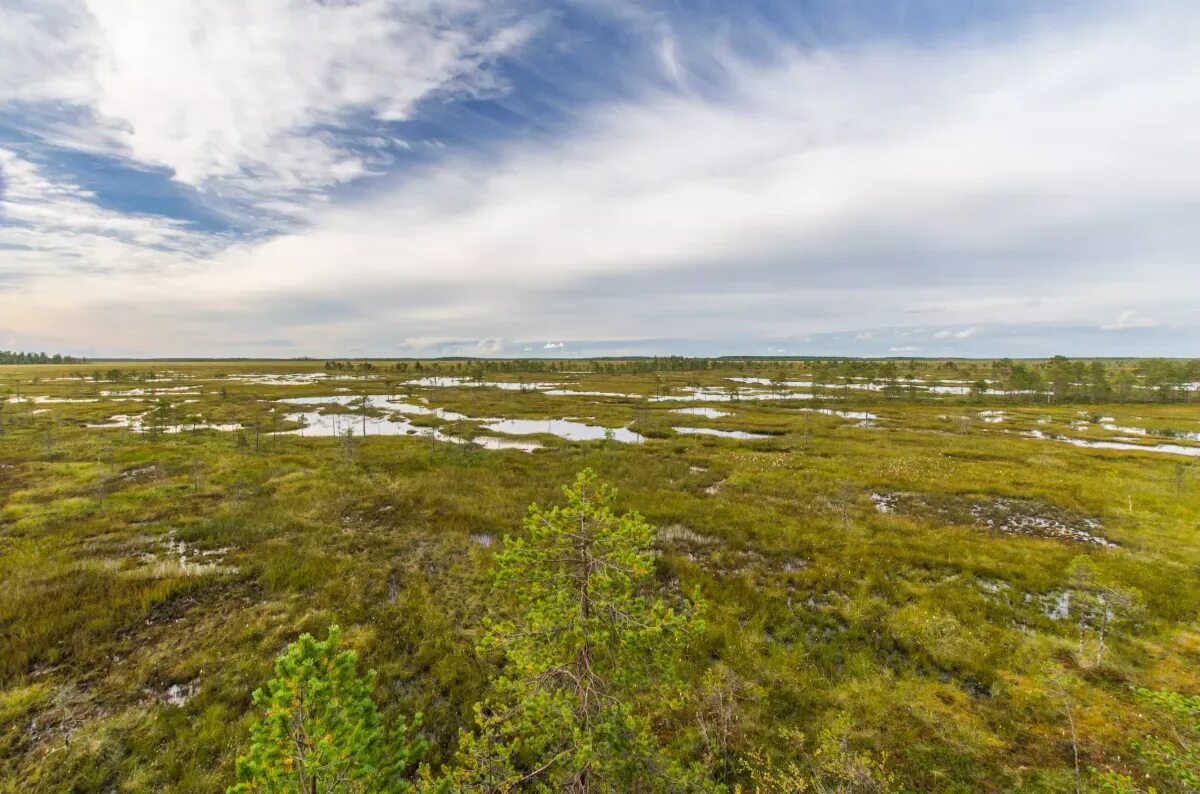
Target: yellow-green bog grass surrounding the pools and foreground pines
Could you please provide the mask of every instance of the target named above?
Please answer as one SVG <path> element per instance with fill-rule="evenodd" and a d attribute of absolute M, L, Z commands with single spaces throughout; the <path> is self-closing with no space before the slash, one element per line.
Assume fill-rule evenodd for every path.
<path fill-rule="evenodd" d="M 486 681 L 474 652 L 481 620 L 504 608 L 490 589 L 496 545 L 479 539 L 517 531 L 530 503 L 556 501 L 584 465 L 619 488 L 619 509 L 664 528 L 661 587 L 698 588 L 709 603 L 685 663 L 697 688 L 718 663 L 740 682 L 733 754 L 780 752 L 782 728 L 815 736 L 848 712 L 854 745 L 887 753 L 908 790 L 1073 792 L 1068 709 L 1085 771 L 1140 774 L 1129 742 L 1151 716 L 1133 687 L 1200 691 L 1200 459 L 1020 434 L 1111 435 L 1094 422 L 1069 429 L 1080 411 L 1196 431 L 1194 403 L 856 392 L 706 403 L 731 411 L 707 420 L 668 413 L 689 403 L 644 397 L 778 367 L 672 372 L 662 385 L 653 373 L 524 377 L 637 395 L 553 397 L 403 386 L 414 372 L 289 386 L 230 377 L 319 363 L 119 366 L 196 386 L 172 396 L 176 421 L 250 429 L 88 428 L 152 405 L 100 391 L 148 384 L 56 380 L 94 368 L 79 365 L 0 368 L 0 392 L 100 401 L 8 403 L 0 414 L 0 792 L 223 788 L 271 660 L 332 621 L 379 670 L 382 709 L 424 711 L 432 760 L 446 758 Z M 924 366 L 931 378 L 973 377 L 964 375 L 973 365 L 953 375 Z M 414 437 L 268 434 L 287 427 L 271 401 L 338 387 L 425 397 L 470 417 L 636 421 L 650 438 L 545 435 L 527 455 Z M 878 420 L 857 427 L 798 410 L 817 407 Z M 984 422 L 982 409 L 1004 420 Z M 671 431 L 680 425 L 770 438 L 684 437 Z M 872 494 L 893 493 L 907 507 L 880 512 Z M 1117 547 L 989 529 L 971 506 L 988 513 L 997 500 L 1097 521 Z M 1099 663 L 1091 645 L 1079 652 L 1076 615 L 1048 614 L 1062 594 L 1081 594 L 1070 572 L 1080 557 L 1096 587 L 1135 595 Z M 173 685 L 192 682 L 193 698 L 168 702 Z M 677 728 L 688 752 L 689 729 Z"/>

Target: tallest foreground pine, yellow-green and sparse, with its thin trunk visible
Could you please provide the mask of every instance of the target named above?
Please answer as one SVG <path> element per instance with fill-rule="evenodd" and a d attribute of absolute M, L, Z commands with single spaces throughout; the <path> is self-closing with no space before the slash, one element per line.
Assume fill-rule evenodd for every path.
<path fill-rule="evenodd" d="M 492 697 L 462 736 L 455 792 L 688 792 L 708 784 L 670 760 L 652 729 L 679 702 L 674 661 L 698 627 L 653 593 L 654 528 L 616 516 L 590 470 L 566 506 L 533 505 L 524 537 L 505 537 L 496 590 L 512 620 L 490 622 L 482 652 L 503 651 Z"/>

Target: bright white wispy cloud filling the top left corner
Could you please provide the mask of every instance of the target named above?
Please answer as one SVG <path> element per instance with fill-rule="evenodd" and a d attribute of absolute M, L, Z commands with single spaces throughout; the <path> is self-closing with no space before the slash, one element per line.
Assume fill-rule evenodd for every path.
<path fill-rule="evenodd" d="M 354 114 L 493 90 L 487 64 L 530 30 L 482 0 L 18 0 L 5 22 L 0 106 L 78 107 L 54 134 L 247 199 L 368 173 L 340 134 Z"/>

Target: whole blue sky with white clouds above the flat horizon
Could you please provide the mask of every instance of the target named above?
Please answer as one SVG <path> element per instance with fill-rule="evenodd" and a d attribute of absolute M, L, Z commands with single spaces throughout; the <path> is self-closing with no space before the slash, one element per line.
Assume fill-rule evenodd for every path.
<path fill-rule="evenodd" d="M 1200 356 L 1200 4 L 0 0 L 0 348 Z"/>

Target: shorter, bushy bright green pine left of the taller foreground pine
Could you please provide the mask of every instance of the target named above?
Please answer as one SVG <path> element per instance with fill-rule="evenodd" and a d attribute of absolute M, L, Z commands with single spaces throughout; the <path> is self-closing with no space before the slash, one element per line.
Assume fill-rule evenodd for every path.
<path fill-rule="evenodd" d="M 358 675 L 358 655 L 340 650 L 341 637 L 337 626 L 324 642 L 301 634 L 275 660 L 275 678 L 254 692 L 260 715 L 229 794 L 412 790 L 403 775 L 425 752 L 409 736 L 420 715 L 397 724 L 388 741 L 371 699 L 374 672 Z"/>

